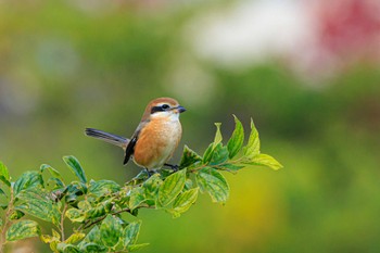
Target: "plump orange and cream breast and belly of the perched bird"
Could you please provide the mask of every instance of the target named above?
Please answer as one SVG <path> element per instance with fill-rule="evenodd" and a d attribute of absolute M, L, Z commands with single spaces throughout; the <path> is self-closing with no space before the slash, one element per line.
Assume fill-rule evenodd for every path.
<path fill-rule="evenodd" d="M 181 134 L 179 121 L 151 121 L 141 129 L 136 142 L 135 163 L 148 169 L 161 168 L 173 156 Z"/>

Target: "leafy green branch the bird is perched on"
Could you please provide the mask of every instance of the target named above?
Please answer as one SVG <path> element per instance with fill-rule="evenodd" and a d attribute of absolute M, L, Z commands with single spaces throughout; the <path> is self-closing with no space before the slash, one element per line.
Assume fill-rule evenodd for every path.
<path fill-rule="evenodd" d="M 236 116 L 235 122 L 227 146 L 221 142 L 220 124 L 215 124 L 215 139 L 202 156 L 186 146 L 177 172 L 160 169 L 148 175 L 142 170 L 125 186 L 105 179 L 88 181 L 74 156 L 63 157 L 78 178 L 69 184 L 47 164 L 13 181 L 0 163 L 4 211 L 1 246 L 37 236 L 53 252 L 131 252 L 145 246 L 148 243 L 137 242 L 141 222 L 131 222 L 140 208 L 163 210 L 179 217 L 197 201 L 199 192 L 208 193 L 216 203 L 228 200 L 229 186 L 221 172 L 237 173 L 248 165 L 281 168 L 274 157 L 261 153 L 253 122 L 245 147 L 243 126 Z M 123 216 L 125 213 L 130 215 Z M 53 226 L 50 235 L 41 232 L 39 220 Z"/>

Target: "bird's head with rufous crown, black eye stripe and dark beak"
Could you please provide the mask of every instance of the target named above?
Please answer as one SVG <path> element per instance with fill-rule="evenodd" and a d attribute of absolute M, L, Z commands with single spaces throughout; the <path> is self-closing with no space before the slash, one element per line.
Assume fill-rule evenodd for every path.
<path fill-rule="evenodd" d="M 143 118 L 170 117 L 178 118 L 186 109 L 172 98 L 154 99 L 147 105 Z"/>

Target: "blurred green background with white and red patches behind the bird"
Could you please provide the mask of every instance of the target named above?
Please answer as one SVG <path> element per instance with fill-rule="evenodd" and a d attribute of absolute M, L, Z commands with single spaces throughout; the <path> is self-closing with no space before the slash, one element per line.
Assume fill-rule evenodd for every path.
<path fill-rule="evenodd" d="M 185 143 L 202 153 L 214 122 L 227 139 L 236 114 L 284 168 L 226 175 L 225 206 L 141 212 L 141 252 L 380 252 L 379 13 L 378 0 L 2 0 L 0 159 L 14 177 L 48 163 L 74 179 L 73 154 L 123 184 L 139 168 L 84 128 L 130 136 L 149 100 L 174 97 L 188 109 L 175 161 Z"/>

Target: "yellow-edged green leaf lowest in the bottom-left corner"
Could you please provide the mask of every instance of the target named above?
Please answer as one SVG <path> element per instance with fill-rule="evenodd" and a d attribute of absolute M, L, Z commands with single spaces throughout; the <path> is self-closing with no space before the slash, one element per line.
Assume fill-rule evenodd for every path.
<path fill-rule="evenodd" d="M 24 219 L 12 224 L 7 230 L 7 241 L 17 241 L 25 238 L 38 237 L 41 235 L 41 229 L 34 220 Z"/>

